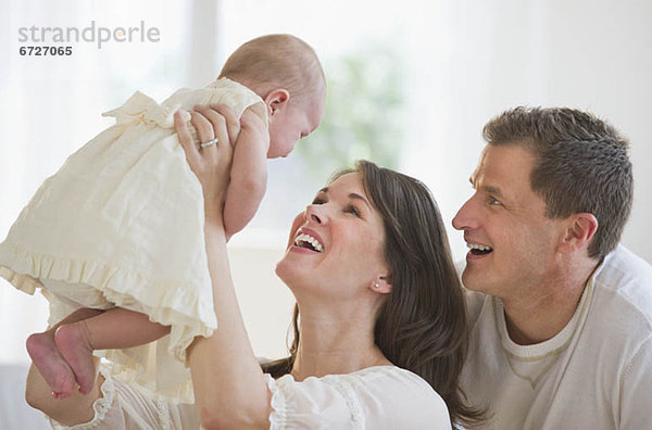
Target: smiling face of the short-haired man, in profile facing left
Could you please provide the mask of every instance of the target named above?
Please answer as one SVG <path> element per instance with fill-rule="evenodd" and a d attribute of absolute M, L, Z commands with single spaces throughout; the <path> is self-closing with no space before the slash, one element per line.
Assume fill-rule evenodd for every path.
<path fill-rule="evenodd" d="M 518 299 L 550 277 L 562 224 L 546 216 L 546 203 L 530 188 L 535 161 L 518 146 L 485 148 L 471 178 L 475 193 L 453 218 L 469 248 L 466 288 Z"/>

